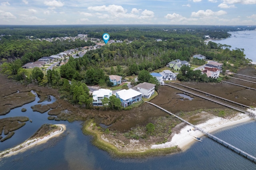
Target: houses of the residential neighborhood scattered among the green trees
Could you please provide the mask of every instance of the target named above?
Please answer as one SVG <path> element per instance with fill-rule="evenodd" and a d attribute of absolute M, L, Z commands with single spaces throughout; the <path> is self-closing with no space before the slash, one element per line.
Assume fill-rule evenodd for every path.
<path fill-rule="evenodd" d="M 78 35 L 76 38 L 87 40 L 87 35 Z M 56 38 L 55 40 L 75 40 L 76 38 Z M 48 41 L 54 41 L 54 39 L 48 40 Z M 100 40 L 97 40 L 100 41 Z M 160 41 L 160 39 L 156 40 Z M 114 41 L 110 40 L 109 43 L 120 43 L 121 41 Z M 42 70 L 48 70 L 52 69 L 52 65 L 63 65 L 65 64 L 69 57 L 72 56 L 74 58 L 83 57 L 84 54 L 88 50 L 91 49 L 97 49 L 101 46 L 105 45 L 104 43 L 96 43 L 94 46 L 86 46 L 76 49 L 69 49 L 66 51 L 63 51 L 61 53 L 58 53 L 56 55 L 51 56 L 45 56 L 38 59 L 38 61 L 26 63 L 22 66 L 24 69 L 33 69 L 34 67 L 42 68 Z M 205 60 L 206 57 L 201 54 L 193 55 L 192 58 L 202 59 Z M 160 85 L 164 85 L 164 81 L 176 81 L 178 71 L 180 68 L 185 65 L 190 67 L 190 63 L 188 61 L 182 61 L 180 59 L 176 59 L 173 61 L 170 61 L 167 63 L 166 67 L 170 68 L 171 70 L 175 71 L 172 72 L 170 69 L 164 69 L 160 72 L 152 72 L 150 75 L 153 77 L 156 77 Z M 44 69 L 46 67 L 46 69 Z M 202 71 L 202 74 L 206 74 L 207 77 L 211 78 L 218 78 L 220 75 L 220 72 L 222 71 L 222 64 L 218 63 L 216 61 L 208 61 L 205 65 L 202 65 L 196 69 L 200 69 Z M 194 70 L 196 70 L 194 69 Z M 112 86 L 119 86 L 122 85 L 122 76 L 119 75 L 109 75 L 109 81 L 112 83 Z M 122 89 L 117 90 L 113 92 L 111 89 L 98 89 L 92 91 L 92 97 L 93 97 L 93 105 L 94 106 L 102 106 L 102 99 L 104 97 L 108 98 L 112 95 L 114 95 L 116 98 L 120 99 L 121 105 L 123 107 L 128 107 L 132 105 L 133 103 L 137 103 L 142 101 L 143 98 L 149 99 L 154 95 L 155 93 L 155 84 L 152 83 L 140 83 L 134 87 L 131 87 L 130 89 Z"/>

